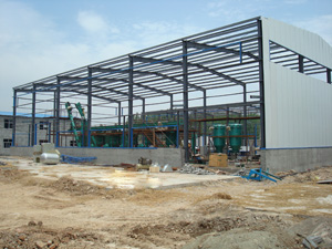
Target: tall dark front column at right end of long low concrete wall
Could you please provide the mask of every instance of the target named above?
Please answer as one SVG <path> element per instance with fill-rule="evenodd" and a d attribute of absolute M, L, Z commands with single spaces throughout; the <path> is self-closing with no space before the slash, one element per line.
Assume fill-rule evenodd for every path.
<path fill-rule="evenodd" d="M 188 58 L 187 43 L 183 41 L 183 82 L 184 82 L 184 149 L 185 149 L 185 162 L 189 160 L 189 116 L 188 116 Z"/>

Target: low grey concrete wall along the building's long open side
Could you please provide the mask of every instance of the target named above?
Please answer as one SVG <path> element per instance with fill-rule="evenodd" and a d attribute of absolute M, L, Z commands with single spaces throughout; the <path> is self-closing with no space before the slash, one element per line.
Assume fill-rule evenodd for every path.
<path fill-rule="evenodd" d="M 153 163 L 159 165 L 168 164 L 173 167 L 181 167 L 184 165 L 184 151 L 181 148 L 77 148 L 77 147 L 59 147 L 58 151 L 63 155 L 97 157 L 97 164 L 117 165 L 137 164 L 139 157 L 152 159 Z M 11 156 L 32 157 L 32 147 L 11 147 Z"/>

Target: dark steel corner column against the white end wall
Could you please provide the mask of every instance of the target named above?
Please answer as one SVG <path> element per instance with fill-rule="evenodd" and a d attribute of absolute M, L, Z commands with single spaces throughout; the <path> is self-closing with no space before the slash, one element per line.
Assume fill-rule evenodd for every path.
<path fill-rule="evenodd" d="M 258 24 L 258 58 L 259 58 L 259 95 L 260 95 L 260 147 L 266 147 L 266 106 L 264 106 L 264 71 L 263 71 L 263 42 L 261 20 Z"/>

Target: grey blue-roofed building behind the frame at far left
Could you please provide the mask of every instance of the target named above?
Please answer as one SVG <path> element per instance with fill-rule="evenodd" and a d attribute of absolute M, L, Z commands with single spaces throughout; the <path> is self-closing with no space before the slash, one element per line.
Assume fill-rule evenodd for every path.
<path fill-rule="evenodd" d="M 0 156 L 10 155 L 10 147 L 12 146 L 12 126 L 13 118 L 11 112 L 0 112 Z M 31 127 L 31 115 L 18 113 L 17 114 L 17 138 L 15 146 L 31 146 L 32 128 L 37 129 L 35 144 L 54 143 L 55 133 L 53 128 L 52 116 L 35 115 L 35 125 Z M 61 131 L 71 128 L 69 118 L 60 118 Z M 72 135 L 61 136 L 61 144 L 63 146 L 75 146 L 75 139 Z"/>

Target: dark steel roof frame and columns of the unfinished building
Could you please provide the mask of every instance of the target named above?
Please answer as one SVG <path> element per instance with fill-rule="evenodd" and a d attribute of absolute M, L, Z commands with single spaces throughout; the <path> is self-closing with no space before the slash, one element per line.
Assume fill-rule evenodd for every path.
<path fill-rule="evenodd" d="M 274 51 L 270 60 L 276 63 L 292 60 L 289 66 L 298 66 L 300 72 L 308 72 L 305 65 L 312 66 L 310 72 L 322 72 L 320 65 L 295 58 L 276 43 L 270 46 Z M 87 108 L 89 131 L 97 121 L 110 120 L 121 125 L 122 120 L 124 124 L 127 118 L 129 147 L 133 147 L 135 111 L 142 114 L 143 121 L 148 114 L 178 116 L 180 113 L 186 160 L 189 112 L 201 110 L 201 122 L 208 121 L 208 110 L 240 108 L 247 135 L 248 110 L 255 107 L 259 110 L 261 147 L 264 147 L 262 51 L 261 18 L 258 17 L 17 86 L 13 89 L 13 145 L 18 108 L 31 110 L 32 127 L 37 113 L 51 112 L 58 134 L 62 105 L 68 100 L 80 98 Z M 328 75 L 331 83 L 331 70 Z M 38 108 L 40 104 L 43 106 Z M 45 107 L 46 104 L 51 107 Z M 100 107 L 106 111 L 98 116 L 94 110 Z M 116 115 L 111 116 L 114 108 Z M 206 122 L 204 126 L 207 134 Z M 34 134 L 31 145 L 33 137 Z"/>

